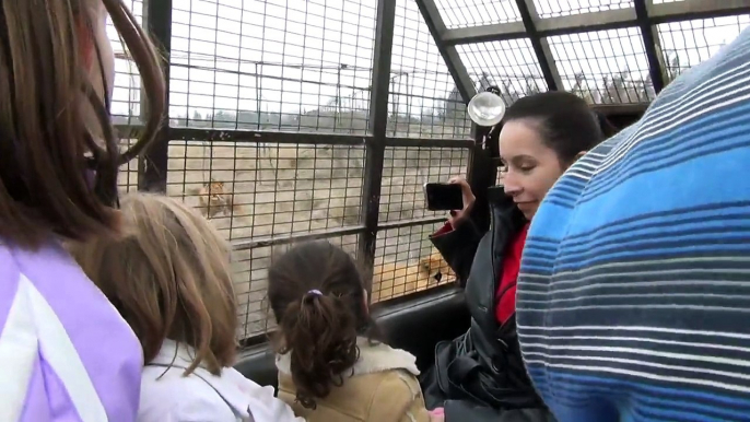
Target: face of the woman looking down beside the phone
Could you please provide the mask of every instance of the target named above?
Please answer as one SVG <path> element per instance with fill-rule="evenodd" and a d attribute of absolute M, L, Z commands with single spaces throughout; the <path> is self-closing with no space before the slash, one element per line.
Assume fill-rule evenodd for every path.
<path fill-rule="evenodd" d="M 505 194 L 531 220 L 547 191 L 563 174 L 554 150 L 544 144 L 534 121 L 512 120 L 500 132 Z"/>

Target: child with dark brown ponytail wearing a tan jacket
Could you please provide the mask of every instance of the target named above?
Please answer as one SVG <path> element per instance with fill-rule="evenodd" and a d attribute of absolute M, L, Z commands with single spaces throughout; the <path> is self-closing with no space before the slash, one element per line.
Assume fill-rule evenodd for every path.
<path fill-rule="evenodd" d="M 367 291 L 342 249 L 313 242 L 268 272 L 279 398 L 308 422 L 430 422 L 413 355 L 375 341 Z"/>

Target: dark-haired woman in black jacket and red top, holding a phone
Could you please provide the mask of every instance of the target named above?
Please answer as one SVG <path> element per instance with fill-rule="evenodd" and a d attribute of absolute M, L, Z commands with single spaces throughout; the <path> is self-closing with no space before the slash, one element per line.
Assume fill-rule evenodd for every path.
<path fill-rule="evenodd" d="M 472 222 L 471 188 L 464 179 L 452 180 L 462 188 L 464 209 L 452 212 L 431 238 L 466 281 L 471 327 L 437 344 L 435 365 L 422 379 L 427 407 L 444 407 L 446 421 L 551 419 L 528 378 L 516 338 L 520 256 L 547 191 L 612 132 L 574 94 L 549 92 L 514 103 L 500 133 L 504 186 L 488 192 L 491 222 L 484 234 Z"/>

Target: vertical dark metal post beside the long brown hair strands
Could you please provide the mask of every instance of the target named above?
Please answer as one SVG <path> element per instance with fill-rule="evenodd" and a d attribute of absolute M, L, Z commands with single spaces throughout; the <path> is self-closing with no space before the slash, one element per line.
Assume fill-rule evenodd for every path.
<path fill-rule="evenodd" d="M 145 0 L 143 22 L 152 40 L 164 58 L 166 106 L 163 126 L 139 161 L 139 190 L 166 191 L 166 172 L 169 156 L 169 56 L 172 51 L 172 0 Z"/>

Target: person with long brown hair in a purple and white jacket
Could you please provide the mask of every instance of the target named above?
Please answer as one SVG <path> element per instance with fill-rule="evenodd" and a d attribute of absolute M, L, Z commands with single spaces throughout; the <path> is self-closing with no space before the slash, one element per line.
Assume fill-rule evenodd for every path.
<path fill-rule="evenodd" d="M 107 19 L 149 103 L 125 155 Z M 141 348 L 60 241 L 117 234 L 117 168 L 165 107 L 157 55 L 120 0 L 1 0 L 0 92 L 0 420 L 131 422 Z"/>

